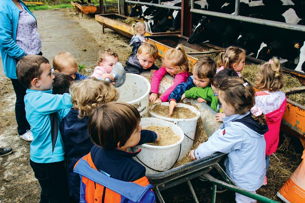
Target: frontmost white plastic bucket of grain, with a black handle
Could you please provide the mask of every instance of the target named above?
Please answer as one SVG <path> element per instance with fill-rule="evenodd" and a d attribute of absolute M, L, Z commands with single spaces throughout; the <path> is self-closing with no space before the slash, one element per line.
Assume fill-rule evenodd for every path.
<path fill-rule="evenodd" d="M 166 171 L 172 168 L 177 162 L 181 147 L 180 144 L 184 139 L 184 134 L 181 128 L 171 122 L 157 118 L 141 118 L 140 125 L 142 128 L 146 128 L 151 125 L 170 127 L 176 135 L 180 136 L 180 140 L 172 145 L 154 146 L 143 144 L 132 148 L 134 152 L 142 149 L 141 152 L 134 157 L 134 159 L 139 163 L 142 161 L 144 163 L 141 163 L 143 166 L 146 165 L 146 173 L 158 173 L 160 171 Z"/>

